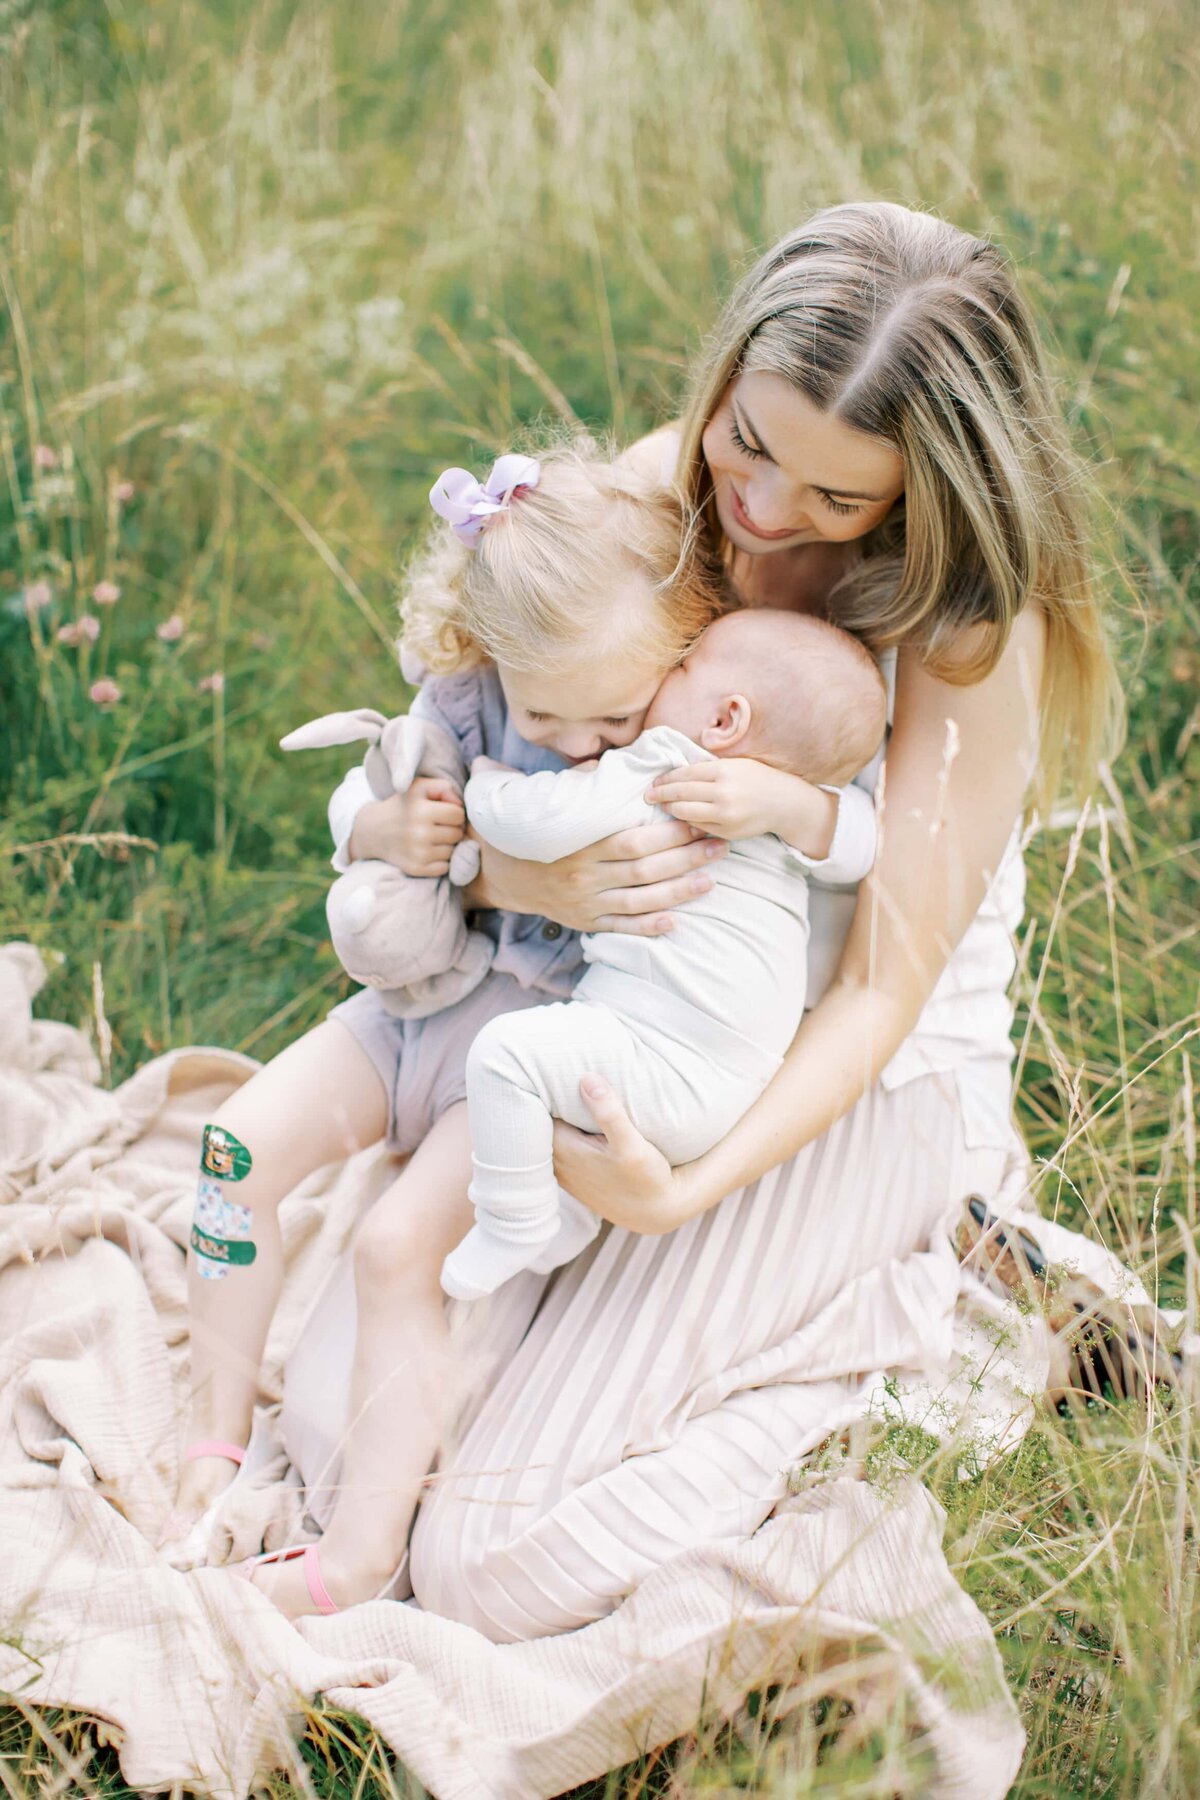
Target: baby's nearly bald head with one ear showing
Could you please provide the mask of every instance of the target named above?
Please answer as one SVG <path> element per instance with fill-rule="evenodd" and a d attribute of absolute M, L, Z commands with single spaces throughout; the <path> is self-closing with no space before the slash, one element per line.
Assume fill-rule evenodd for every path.
<path fill-rule="evenodd" d="M 675 725 L 714 756 L 754 756 L 842 787 L 880 747 L 887 689 L 849 632 L 748 607 L 709 625 L 658 688 L 646 725 Z"/>

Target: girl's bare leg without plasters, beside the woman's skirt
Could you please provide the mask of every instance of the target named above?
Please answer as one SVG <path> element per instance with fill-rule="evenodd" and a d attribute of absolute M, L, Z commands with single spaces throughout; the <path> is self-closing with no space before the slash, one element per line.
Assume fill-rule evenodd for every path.
<path fill-rule="evenodd" d="M 443 1258 L 471 1222 L 466 1105 L 434 1125 L 354 1242 L 358 1336 L 338 1499 L 320 1543 L 320 1577 L 338 1606 L 367 1600 L 396 1571 L 421 1485 L 453 1399 L 439 1283 Z M 254 1571 L 295 1618 L 315 1611 L 295 1562 Z"/>

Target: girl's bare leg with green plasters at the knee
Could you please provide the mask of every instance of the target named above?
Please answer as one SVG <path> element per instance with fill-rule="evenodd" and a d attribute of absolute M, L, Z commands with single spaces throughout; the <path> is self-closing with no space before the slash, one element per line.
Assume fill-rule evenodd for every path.
<path fill-rule="evenodd" d="M 252 1213 L 255 1255 L 254 1262 L 223 1271 L 219 1280 L 205 1280 L 196 1255 L 189 1253 L 191 1418 L 185 1442 L 245 1444 L 266 1330 L 282 1283 L 279 1202 L 313 1170 L 376 1143 L 387 1129 L 387 1094 L 351 1031 L 326 1019 L 230 1094 L 212 1123 L 232 1132 L 250 1152 L 250 1172 L 227 1188 L 228 1197 Z M 232 1478 L 234 1465 L 223 1458 L 184 1463 L 175 1528 Z"/>

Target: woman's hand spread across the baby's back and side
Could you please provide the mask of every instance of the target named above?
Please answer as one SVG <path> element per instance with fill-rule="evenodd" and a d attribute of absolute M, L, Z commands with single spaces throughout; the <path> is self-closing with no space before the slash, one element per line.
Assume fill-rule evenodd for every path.
<path fill-rule="evenodd" d="M 480 842 L 482 868 L 468 907 L 538 913 L 570 931 L 624 931 L 653 938 L 673 929 L 671 907 L 712 887 L 709 862 L 727 846 L 666 821 L 613 832 L 558 862 L 518 862 Z"/>

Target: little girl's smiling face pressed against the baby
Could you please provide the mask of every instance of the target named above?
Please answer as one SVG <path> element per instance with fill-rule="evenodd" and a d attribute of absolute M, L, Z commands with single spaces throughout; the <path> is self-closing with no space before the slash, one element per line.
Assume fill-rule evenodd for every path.
<path fill-rule="evenodd" d="M 606 668 L 542 675 L 498 664 L 509 716 L 525 743 L 587 763 L 640 733 L 662 680 L 660 668 Z"/>

